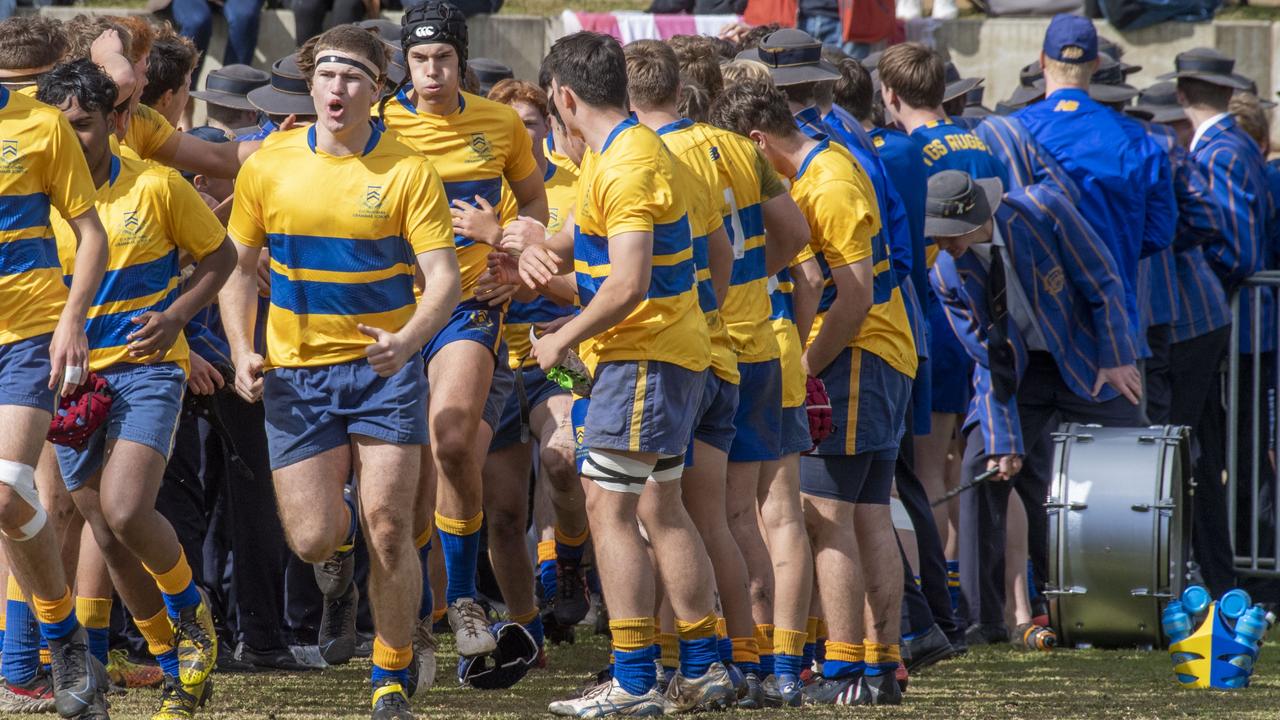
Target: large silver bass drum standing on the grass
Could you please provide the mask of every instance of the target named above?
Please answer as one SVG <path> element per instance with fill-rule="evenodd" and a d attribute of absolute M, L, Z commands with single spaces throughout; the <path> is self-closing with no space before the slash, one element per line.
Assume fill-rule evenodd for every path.
<path fill-rule="evenodd" d="M 1059 643 L 1165 644 L 1160 614 L 1188 577 L 1190 489 L 1187 428 L 1053 433 L 1044 594 Z"/>

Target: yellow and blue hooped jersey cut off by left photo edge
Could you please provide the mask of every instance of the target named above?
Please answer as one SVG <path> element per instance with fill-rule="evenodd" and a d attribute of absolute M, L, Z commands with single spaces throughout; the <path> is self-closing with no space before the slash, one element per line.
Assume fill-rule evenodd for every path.
<path fill-rule="evenodd" d="M 50 333 L 67 286 L 50 210 L 93 208 L 93 179 L 67 118 L 0 87 L 0 345 Z"/>

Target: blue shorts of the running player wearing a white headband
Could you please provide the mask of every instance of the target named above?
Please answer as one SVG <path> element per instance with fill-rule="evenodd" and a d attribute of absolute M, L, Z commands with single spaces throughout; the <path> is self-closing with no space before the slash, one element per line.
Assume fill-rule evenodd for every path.
<path fill-rule="evenodd" d="M 319 368 L 275 368 L 262 380 L 271 469 L 301 462 L 366 436 L 394 445 L 426 445 L 426 374 L 410 357 L 380 377 L 367 360 Z"/>

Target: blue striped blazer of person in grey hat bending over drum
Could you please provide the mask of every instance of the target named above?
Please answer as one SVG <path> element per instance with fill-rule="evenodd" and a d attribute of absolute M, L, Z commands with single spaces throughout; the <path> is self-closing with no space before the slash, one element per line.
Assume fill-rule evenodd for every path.
<path fill-rule="evenodd" d="M 1091 395 L 1100 368 L 1129 365 L 1137 357 L 1124 284 L 1107 246 L 1057 191 L 1044 184 L 1007 193 L 996 210 L 996 227 L 1011 261 L 1007 272 L 1016 274 L 1027 292 L 1062 380 L 1084 400 L 1116 397 L 1110 386 L 1097 398 Z M 940 252 L 931 278 L 956 337 L 975 361 L 965 427 L 982 427 L 988 455 L 1021 454 L 1016 397 L 1000 404 L 991 386 L 987 269 L 974 252 L 960 258 Z M 1028 363 L 1027 345 L 1011 319 L 1009 340 L 1020 379 Z"/>

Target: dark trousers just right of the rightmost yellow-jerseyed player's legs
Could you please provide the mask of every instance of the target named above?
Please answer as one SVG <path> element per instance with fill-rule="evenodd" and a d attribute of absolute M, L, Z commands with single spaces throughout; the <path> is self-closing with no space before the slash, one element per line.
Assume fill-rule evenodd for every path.
<path fill-rule="evenodd" d="M 938 525 L 933 521 L 933 509 L 929 507 L 929 496 L 924 491 L 924 484 L 915 474 L 915 438 L 911 436 L 911 413 L 908 409 L 908 430 L 902 433 L 902 443 L 899 446 L 897 465 L 893 471 L 893 482 L 897 487 L 897 498 L 902 501 L 906 514 L 911 518 L 915 528 L 915 546 L 919 555 L 920 585 L 915 585 L 911 573 L 906 573 L 906 591 L 902 594 L 904 603 L 908 598 L 919 596 L 918 600 L 925 602 L 931 615 L 931 624 L 937 624 L 948 638 L 959 639 L 964 634 L 964 628 L 956 623 L 951 611 L 951 593 L 947 591 L 947 557 L 942 548 L 942 536 Z M 905 556 L 904 556 L 905 562 Z M 908 565 L 902 566 L 909 570 Z M 918 620 L 913 621 L 910 632 L 928 630 L 929 625 L 920 628 L 915 623 L 923 621 L 923 614 L 916 614 Z M 904 629 L 904 632 L 906 632 Z"/>

